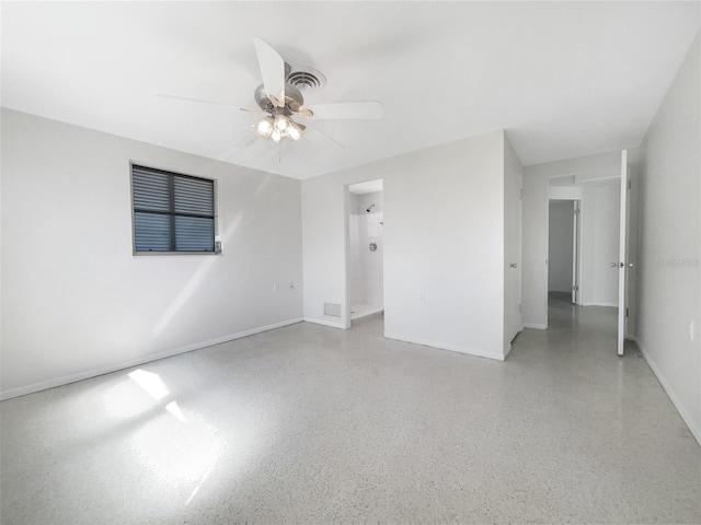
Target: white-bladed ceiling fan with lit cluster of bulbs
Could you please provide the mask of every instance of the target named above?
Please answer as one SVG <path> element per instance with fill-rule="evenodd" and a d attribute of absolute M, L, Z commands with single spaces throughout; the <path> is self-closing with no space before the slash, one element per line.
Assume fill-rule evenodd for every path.
<path fill-rule="evenodd" d="M 299 117 L 307 120 L 380 118 L 384 114 L 382 104 L 378 101 L 304 105 L 304 97 L 297 85 L 302 89 L 310 85 L 320 85 L 321 82 L 319 80 L 323 80 L 323 75 L 319 72 L 314 74 L 304 73 L 303 71 L 301 74 L 299 71 L 295 74 L 291 71 L 291 67 L 285 62 L 279 52 L 269 44 L 257 37 L 253 40 L 263 79 L 263 83 L 254 92 L 255 102 L 258 105 L 257 108 L 176 95 L 160 94 L 157 96 L 218 104 L 242 112 L 266 113 L 266 116 L 253 125 L 254 137 L 257 136 L 265 139 L 274 145 L 280 145 L 286 141 L 296 142 L 302 137 L 309 122 L 300 122 Z"/>

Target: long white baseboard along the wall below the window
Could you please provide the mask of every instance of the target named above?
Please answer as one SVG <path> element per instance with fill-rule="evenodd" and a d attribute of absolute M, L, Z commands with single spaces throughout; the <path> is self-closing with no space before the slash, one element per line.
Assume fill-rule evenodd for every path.
<path fill-rule="evenodd" d="M 231 334 L 229 336 L 217 337 L 208 341 L 195 342 L 193 345 L 186 345 L 184 347 L 174 348 L 172 350 L 168 350 L 165 352 L 157 353 L 153 355 L 143 355 L 137 359 L 123 361 L 123 362 L 111 364 L 107 366 L 100 366 L 97 369 L 85 370 L 82 372 L 78 372 L 76 374 L 64 375 L 61 377 L 42 381 L 38 383 L 33 383 L 31 385 L 20 386 L 18 388 L 11 388 L 9 390 L 0 392 L 0 401 L 3 401 L 5 399 L 11 399 L 13 397 L 25 396 L 27 394 L 33 394 L 35 392 L 46 390 L 48 388 L 55 388 L 57 386 L 68 385 L 69 383 L 76 383 L 77 381 L 89 380 L 97 375 L 104 375 L 104 374 L 110 374 L 112 372 L 117 372 L 119 370 L 130 369 L 131 366 L 139 366 L 141 364 L 150 363 L 152 361 L 158 361 L 160 359 L 172 358 L 173 355 L 177 355 L 181 353 L 192 352 L 193 350 L 199 350 L 202 348 L 211 347 L 214 345 L 233 341 L 234 339 L 241 339 L 242 337 L 253 336 L 255 334 L 274 330 L 275 328 L 281 328 L 284 326 L 295 325 L 301 322 L 302 322 L 302 318 L 298 317 L 295 319 L 273 323 L 272 325 L 265 325 L 258 328 L 239 331 L 238 334 Z"/>

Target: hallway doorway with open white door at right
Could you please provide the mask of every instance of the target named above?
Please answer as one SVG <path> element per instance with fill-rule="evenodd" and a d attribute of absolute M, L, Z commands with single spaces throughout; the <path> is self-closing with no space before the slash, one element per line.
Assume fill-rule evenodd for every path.
<path fill-rule="evenodd" d="M 549 303 L 554 299 L 560 306 L 570 295 L 573 315 L 584 312 L 581 306 L 604 308 L 606 315 L 618 318 L 616 347 L 622 355 L 624 340 L 634 330 L 636 221 L 630 211 L 635 210 L 631 155 L 623 150 L 619 159 L 617 168 L 550 177 L 547 290 Z M 572 246 L 571 258 L 563 245 Z M 555 253 L 559 247 L 560 254 Z M 570 279 L 572 288 L 566 290 Z"/>

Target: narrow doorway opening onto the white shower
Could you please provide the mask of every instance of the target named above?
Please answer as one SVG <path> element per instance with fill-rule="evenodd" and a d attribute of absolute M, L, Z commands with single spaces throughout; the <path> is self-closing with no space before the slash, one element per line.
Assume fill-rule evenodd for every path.
<path fill-rule="evenodd" d="M 384 311 L 382 179 L 348 186 L 347 298 L 350 324 Z"/>

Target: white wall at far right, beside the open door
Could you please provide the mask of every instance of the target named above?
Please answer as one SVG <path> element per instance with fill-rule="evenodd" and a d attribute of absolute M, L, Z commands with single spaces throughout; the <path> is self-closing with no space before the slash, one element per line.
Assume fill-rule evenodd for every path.
<path fill-rule="evenodd" d="M 697 35 L 641 147 L 637 260 L 637 341 L 699 442 L 700 47 Z"/>

